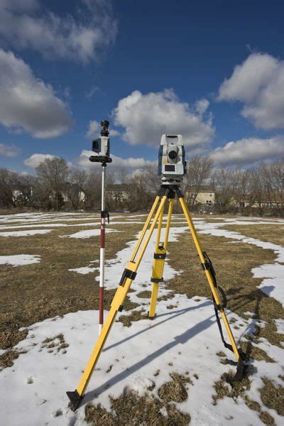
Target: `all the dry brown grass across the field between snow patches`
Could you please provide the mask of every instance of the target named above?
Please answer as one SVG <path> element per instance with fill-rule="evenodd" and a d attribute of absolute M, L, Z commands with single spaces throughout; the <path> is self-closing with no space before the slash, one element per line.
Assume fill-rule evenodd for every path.
<path fill-rule="evenodd" d="M 1 217 L 0 217 L 1 218 Z M 28 219 L 32 219 L 28 222 Z M 117 232 L 107 234 L 107 261 L 116 257 L 116 253 L 127 246 L 129 241 L 136 239 L 145 217 L 131 215 L 116 215 L 109 228 Z M 234 221 L 225 223 L 217 217 L 197 218 L 205 224 L 222 223 L 222 230 L 234 231 L 251 239 L 271 242 L 284 246 L 283 223 L 281 221 L 267 220 L 265 224 L 234 224 Z M 40 256 L 39 263 L 26 266 L 0 265 L 0 368 L 9 368 L 13 362 L 22 356 L 13 349 L 18 342 L 26 337 L 25 327 L 35 322 L 43 321 L 55 315 L 65 315 L 78 310 L 93 310 L 98 307 L 98 285 L 95 280 L 98 271 L 82 275 L 70 269 L 84 266 L 96 267 L 99 260 L 99 236 L 91 238 L 72 238 L 70 235 L 80 231 L 92 229 L 92 222 L 99 222 L 98 217 L 87 214 L 80 216 L 58 215 L 46 217 L 3 217 L 0 224 L 0 256 L 13 256 L 18 254 L 31 254 Z M 117 222 L 117 223 L 116 223 Z M 120 223 L 118 223 L 120 222 Z M 60 226 L 60 225 L 67 226 Z M 36 228 L 38 225 L 38 228 Z M 26 226 L 31 226 L 27 228 Z M 177 216 L 173 226 L 185 226 L 182 217 Z M 2 236 L 1 232 L 27 231 L 27 229 L 53 229 L 48 234 L 35 234 L 29 236 Z M 98 225 L 97 225 L 98 228 Z M 197 229 L 199 226 L 197 226 Z M 201 226 L 202 228 L 202 226 Z M 275 319 L 284 319 L 283 303 L 263 293 L 258 288 L 262 279 L 254 278 L 251 270 L 263 264 L 275 263 L 276 254 L 272 249 L 263 249 L 261 246 L 231 240 L 225 236 L 203 234 L 200 232 L 202 248 L 207 251 L 214 262 L 217 271 L 217 280 L 226 291 L 228 309 L 239 317 L 248 320 L 251 315 L 257 321 L 254 333 L 246 335 L 242 348 L 251 359 L 264 360 L 273 363 L 271 356 L 258 347 L 258 342 L 265 339 L 269 344 L 283 349 L 284 335 L 280 334 L 275 325 Z M 128 259 L 126 259 L 127 261 Z M 92 261 L 95 261 L 92 263 Z M 171 292 L 166 296 L 170 299 L 178 294 L 185 294 L 188 298 L 210 297 L 209 287 L 200 268 L 195 246 L 190 234 L 183 232 L 178 236 L 178 241 L 171 242 L 168 253 L 168 263 L 180 274 L 166 283 L 166 288 Z M 122 271 L 121 271 L 122 273 Z M 149 271 L 149 278 L 151 271 Z M 117 277 L 119 282 L 119 277 Z M 119 320 L 125 327 L 132 322 L 146 317 L 148 311 L 148 297 L 151 295 L 151 285 L 138 295 L 141 298 L 141 307 L 130 300 L 124 305 L 127 315 L 122 314 Z M 114 290 L 105 291 L 106 309 L 114 295 Z M 164 296 L 165 298 L 165 296 Z M 139 307 L 139 309 L 137 309 Z M 169 305 L 169 309 L 175 309 Z M 248 314 L 249 312 L 249 314 Z M 234 322 L 231 323 L 234 331 Z M 48 342 L 46 342 L 48 344 Z M 284 352 L 283 352 L 284 354 Z M 220 362 L 224 356 L 220 354 Z M 218 404 L 222 398 L 229 397 L 233 400 L 243 398 L 251 410 L 256 410 L 261 422 L 273 425 L 273 410 L 278 415 L 284 415 L 284 388 L 272 380 L 263 377 L 263 387 L 259 390 L 263 405 L 248 397 L 247 391 L 251 386 L 250 372 L 241 383 L 228 388 L 222 380 L 214 385 L 216 394 L 212 401 Z M 281 379 L 284 379 L 284 373 Z M 190 415 L 182 413 L 170 402 L 181 402 L 187 399 L 185 383 L 190 383 L 186 374 L 177 375 L 173 372 L 171 380 L 165 383 L 159 391 L 160 399 L 141 397 L 135 393 L 121 395 L 116 400 L 111 400 L 111 412 L 101 406 L 94 408 L 89 404 L 86 408 L 86 420 L 94 425 L 124 424 L 122 418 L 125 413 L 132 415 L 135 424 L 151 425 L 187 425 Z M 150 398 L 150 399 L 149 399 Z M 182 399 L 183 398 L 183 399 Z M 127 403 L 126 403 L 127 401 Z M 148 407 L 145 411 L 143 407 Z M 141 408 L 142 407 L 142 408 Z M 134 409 L 135 408 L 135 409 Z M 160 415 L 160 410 L 168 413 L 166 421 Z M 272 411 L 271 411 L 272 410 Z M 148 414 L 146 414 L 146 412 Z M 116 413 L 114 416 L 113 413 Z M 123 414 L 124 413 L 124 414 Z M 121 417 L 119 417 L 121 415 Z M 124 416 L 125 417 L 125 416 Z M 127 416 L 126 416 L 127 417 Z M 125 423 L 132 424 L 132 423 Z M 134 423 L 133 423 L 134 424 Z"/>

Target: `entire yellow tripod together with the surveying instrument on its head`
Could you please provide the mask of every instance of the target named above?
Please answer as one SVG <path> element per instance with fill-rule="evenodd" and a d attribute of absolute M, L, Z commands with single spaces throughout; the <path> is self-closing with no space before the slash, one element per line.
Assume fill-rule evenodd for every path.
<path fill-rule="evenodd" d="M 169 138 L 170 141 L 168 140 Z M 175 144 L 173 144 L 173 139 L 176 142 Z M 175 146 L 175 149 L 173 149 L 173 145 Z M 176 154 L 174 158 L 177 158 L 177 160 L 175 163 L 169 164 L 168 158 L 170 158 L 170 154 L 172 152 Z M 173 160 L 173 158 L 170 159 Z M 231 327 L 229 325 L 225 313 L 226 295 L 224 293 L 224 290 L 222 290 L 222 288 L 217 285 L 216 273 L 214 271 L 211 259 L 205 251 L 202 251 L 200 241 L 195 230 L 195 225 L 192 222 L 189 209 L 183 197 L 182 191 L 180 190 L 182 176 L 186 173 L 185 149 L 182 143 L 181 135 L 162 136 L 159 150 L 158 173 L 162 176 L 162 185 L 160 185 L 160 190 L 158 191 L 158 194 L 155 197 L 155 201 L 153 202 L 153 206 L 151 208 L 150 213 L 148 214 L 148 218 L 146 219 L 146 222 L 143 226 L 143 229 L 133 250 L 129 263 L 127 263 L 126 268 L 124 269 L 124 272 L 121 275 L 121 279 L 118 283 L 119 285 L 114 295 L 114 299 L 111 302 L 109 315 L 107 316 L 107 319 L 104 322 L 102 332 L 99 334 L 97 343 L 94 346 L 92 355 L 89 358 L 89 362 L 84 370 L 84 373 L 82 374 L 77 388 L 75 389 L 75 391 L 67 392 L 67 396 L 70 399 L 70 407 L 72 408 L 72 410 L 76 410 L 79 407 L 82 398 L 84 398 L 84 393 L 87 389 L 94 368 L 97 365 L 99 356 L 102 353 L 104 344 L 107 341 L 107 337 L 109 335 L 111 327 L 115 324 L 116 315 L 118 312 L 121 312 L 121 310 L 123 310 L 124 300 L 126 299 L 126 296 L 129 293 L 132 281 L 136 278 L 136 275 L 138 273 L 138 267 L 143 259 L 144 253 L 146 252 L 148 243 L 151 240 L 151 236 L 153 235 L 155 226 L 157 226 L 157 236 L 151 275 L 152 294 L 150 308 L 148 312 L 149 319 L 155 319 L 155 308 L 158 300 L 159 285 L 160 283 L 163 283 L 163 270 L 168 249 L 168 236 L 170 233 L 170 222 L 173 213 L 175 197 L 178 198 L 178 202 L 182 207 L 182 212 L 185 215 L 190 234 L 192 235 L 192 240 L 195 244 L 195 248 L 197 249 L 197 253 L 200 258 L 202 270 L 204 271 L 204 274 L 209 284 L 210 291 L 212 293 L 212 302 L 222 343 L 224 344 L 224 347 L 226 349 L 229 349 L 229 351 L 233 352 L 236 356 L 236 361 L 228 360 L 229 364 L 236 365 L 236 374 L 234 377 L 231 378 L 226 375 L 226 381 L 240 381 L 241 378 L 244 377 L 244 371 L 246 368 L 244 362 L 247 360 L 247 356 L 246 354 L 244 354 L 243 351 L 241 351 L 241 349 L 238 349 L 238 347 L 236 346 L 234 335 L 231 332 Z M 163 228 L 163 213 L 166 203 L 168 204 L 168 218 L 165 225 L 165 232 L 163 233 L 162 238 L 161 231 Z M 222 295 L 221 298 L 219 297 L 219 293 L 221 293 Z M 230 343 L 227 343 L 224 339 L 222 324 L 224 324 L 224 327 L 226 328 Z M 123 375 L 123 377 L 126 377 L 128 373 L 127 371 L 124 371 L 119 373 L 119 375 L 121 374 Z"/>

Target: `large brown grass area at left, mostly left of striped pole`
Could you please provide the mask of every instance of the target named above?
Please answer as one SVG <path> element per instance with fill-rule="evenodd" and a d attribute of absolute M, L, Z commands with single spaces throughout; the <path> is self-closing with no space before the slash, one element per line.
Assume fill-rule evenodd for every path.
<path fill-rule="evenodd" d="M 114 258 L 140 228 L 139 224 L 119 225 L 121 232 L 107 234 L 106 258 Z M 90 261 L 99 259 L 99 237 L 60 238 L 84 229 L 89 227 L 62 227 L 50 234 L 0 238 L 0 255 L 26 253 L 41 256 L 40 263 L 0 266 L 1 349 L 9 349 L 26 337 L 26 331 L 18 331 L 20 327 L 28 327 L 55 315 L 98 307 L 99 287 L 94 280 L 97 271 L 81 275 L 68 269 L 87 266 Z M 93 265 L 98 266 L 98 263 Z M 117 277 L 118 283 L 119 279 Z M 106 309 L 109 309 L 114 291 L 105 292 Z M 126 299 L 124 309 L 135 306 L 129 298 Z"/>

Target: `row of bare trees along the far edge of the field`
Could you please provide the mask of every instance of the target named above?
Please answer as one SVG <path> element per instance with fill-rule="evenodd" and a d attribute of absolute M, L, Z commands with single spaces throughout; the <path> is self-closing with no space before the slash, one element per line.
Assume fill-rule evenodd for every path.
<path fill-rule="evenodd" d="M 97 209 L 100 204 L 102 170 L 86 171 L 69 167 L 62 158 L 46 159 L 35 175 L 0 169 L 0 207 Z M 116 185 L 119 182 L 120 185 Z M 107 170 L 107 207 L 114 210 L 147 210 L 160 187 L 157 167 L 129 173 L 121 168 Z M 214 204 L 200 205 L 197 196 L 207 187 L 214 192 Z M 214 168 L 209 157 L 187 161 L 182 190 L 191 209 L 200 212 L 241 212 L 242 214 L 283 215 L 284 158 L 263 162 L 251 168 Z"/>

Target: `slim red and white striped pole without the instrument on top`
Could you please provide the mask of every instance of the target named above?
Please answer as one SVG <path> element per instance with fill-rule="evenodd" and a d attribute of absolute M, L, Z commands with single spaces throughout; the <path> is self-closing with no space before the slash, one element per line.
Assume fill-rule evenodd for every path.
<path fill-rule="evenodd" d="M 105 210 L 104 201 L 104 178 L 107 164 L 102 163 L 102 209 L 101 209 L 101 238 L 99 249 L 99 333 L 102 331 L 104 324 L 104 245 L 106 232 L 106 218 L 109 222 L 109 212 Z"/>

